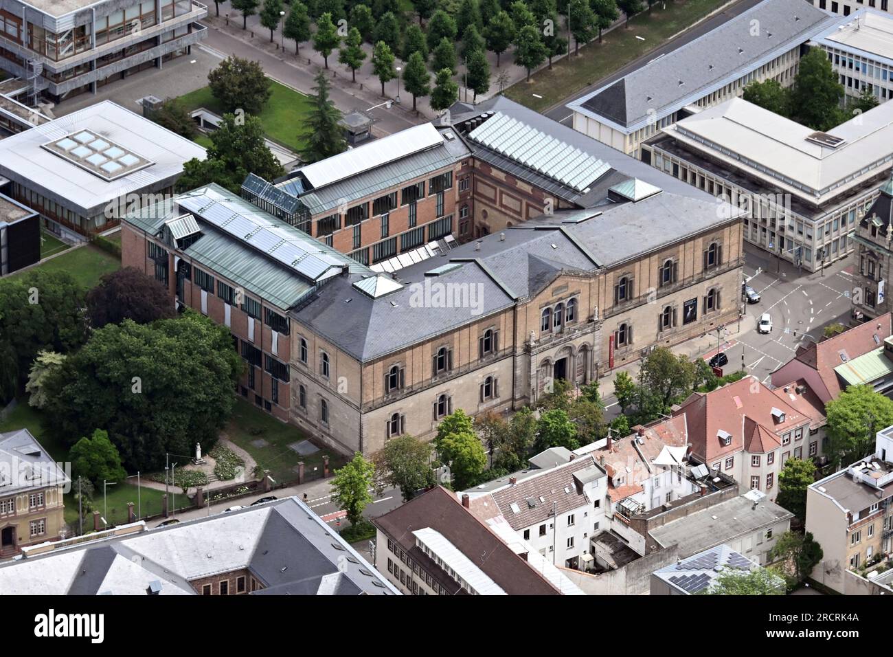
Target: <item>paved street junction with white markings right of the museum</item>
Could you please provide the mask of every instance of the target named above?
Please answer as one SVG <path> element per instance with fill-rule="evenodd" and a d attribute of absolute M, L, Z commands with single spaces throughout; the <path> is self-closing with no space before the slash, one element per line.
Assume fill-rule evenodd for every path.
<path fill-rule="evenodd" d="M 744 274 L 761 296 L 758 303 L 747 304 L 745 312 L 755 321 L 769 313 L 772 333 L 740 335 L 726 353 L 735 366 L 743 356 L 748 373 L 769 383 L 772 371 L 793 358 L 799 346 L 819 341 L 825 326 L 849 322 L 854 256 L 829 265 L 823 274 L 810 274 L 798 273 L 788 263 L 777 271 L 778 261 L 769 254 L 749 245 L 745 250 Z"/>

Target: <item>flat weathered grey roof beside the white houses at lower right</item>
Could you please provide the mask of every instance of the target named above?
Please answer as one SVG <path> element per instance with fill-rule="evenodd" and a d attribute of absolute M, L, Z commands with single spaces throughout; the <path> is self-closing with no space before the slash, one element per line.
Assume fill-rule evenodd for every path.
<path fill-rule="evenodd" d="M 793 517 L 793 513 L 782 509 L 768 498 L 764 498 L 754 508 L 754 502 L 739 495 L 685 518 L 655 527 L 650 533 L 664 547 L 678 543 L 680 556 L 684 559 L 714 545 L 727 543 L 737 536 Z"/>

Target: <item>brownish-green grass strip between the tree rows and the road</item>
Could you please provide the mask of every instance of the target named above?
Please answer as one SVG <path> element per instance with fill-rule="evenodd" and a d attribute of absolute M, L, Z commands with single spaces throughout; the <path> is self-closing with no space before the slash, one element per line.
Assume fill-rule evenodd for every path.
<path fill-rule="evenodd" d="M 665 10 L 661 9 L 661 4 L 655 4 L 650 13 L 646 10 L 634 16 L 630 21 L 630 29 L 620 25 L 605 34 L 603 43 L 594 41 L 588 46 L 580 45 L 580 56 L 571 55 L 556 62 L 551 71 L 543 69 L 532 75 L 530 82 L 516 82 L 505 89 L 505 96 L 543 112 L 581 88 L 595 84 L 624 64 L 661 46 L 672 35 L 726 2 L 727 0 L 668 0 Z M 645 40 L 639 40 L 637 36 Z M 570 47 L 573 52 L 573 41 Z M 497 72 L 491 73 L 495 79 Z M 535 97 L 534 94 L 540 97 Z"/>

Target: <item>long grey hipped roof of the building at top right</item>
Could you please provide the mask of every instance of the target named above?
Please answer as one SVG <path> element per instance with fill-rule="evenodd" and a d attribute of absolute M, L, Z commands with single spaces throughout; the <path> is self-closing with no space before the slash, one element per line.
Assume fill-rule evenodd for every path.
<path fill-rule="evenodd" d="M 757 36 L 752 21 L 758 21 Z M 764 0 L 567 106 L 629 133 L 647 124 L 649 110 L 659 121 L 805 43 L 835 21 L 803 0 Z"/>

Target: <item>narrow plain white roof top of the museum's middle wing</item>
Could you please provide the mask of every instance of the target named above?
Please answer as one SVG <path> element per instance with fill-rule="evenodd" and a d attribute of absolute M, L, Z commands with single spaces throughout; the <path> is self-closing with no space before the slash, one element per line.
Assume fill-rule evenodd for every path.
<path fill-rule="evenodd" d="M 375 139 L 361 147 L 351 148 L 337 156 L 307 164 L 300 172 L 313 185 L 313 189 L 318 190 L 443 142 L 444 138 L 437 128 L 430 123 L 422 123 L 388 137 Z"/>

